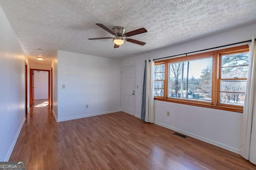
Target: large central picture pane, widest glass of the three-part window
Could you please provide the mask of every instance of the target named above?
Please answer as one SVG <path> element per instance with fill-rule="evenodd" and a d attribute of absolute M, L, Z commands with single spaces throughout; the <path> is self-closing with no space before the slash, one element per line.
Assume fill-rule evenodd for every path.
<path fill-rule="evenodd" d="M 168 69 L 168 97 L 211 102 L 212 57 L 170 63 Z"/>

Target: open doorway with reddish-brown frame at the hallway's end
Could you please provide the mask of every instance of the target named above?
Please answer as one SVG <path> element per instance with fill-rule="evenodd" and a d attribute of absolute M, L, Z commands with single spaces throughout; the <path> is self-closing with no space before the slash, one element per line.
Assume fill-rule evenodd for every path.
<path fill-rule="evenodd" d="M 30 69 L 30 105 L 50 103 L 50 70 Z"/>

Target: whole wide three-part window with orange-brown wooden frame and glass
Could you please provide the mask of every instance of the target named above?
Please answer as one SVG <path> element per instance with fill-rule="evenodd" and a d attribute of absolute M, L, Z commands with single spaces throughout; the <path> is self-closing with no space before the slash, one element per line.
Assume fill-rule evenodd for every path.
<path fill-rule="evenodd" d="M 156 100 L 242 112 L 248 45 L 155 62 Z"/>

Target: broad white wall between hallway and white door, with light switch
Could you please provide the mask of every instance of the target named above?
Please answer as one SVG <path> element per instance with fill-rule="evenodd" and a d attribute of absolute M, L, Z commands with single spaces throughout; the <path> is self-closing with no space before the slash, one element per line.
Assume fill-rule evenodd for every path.
<path fill-rule="evenodd" d="M 58 121 L 120 111 L 120 87 L 120 60 L 58 51 Z"/>

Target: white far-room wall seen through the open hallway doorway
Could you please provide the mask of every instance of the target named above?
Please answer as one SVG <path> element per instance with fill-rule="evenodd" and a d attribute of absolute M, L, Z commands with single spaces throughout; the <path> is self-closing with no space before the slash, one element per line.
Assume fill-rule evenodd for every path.
<path fill-rule="evenodd" d="M 34 71 L 35 99 L 48 99 L 48 71 Z"/>

